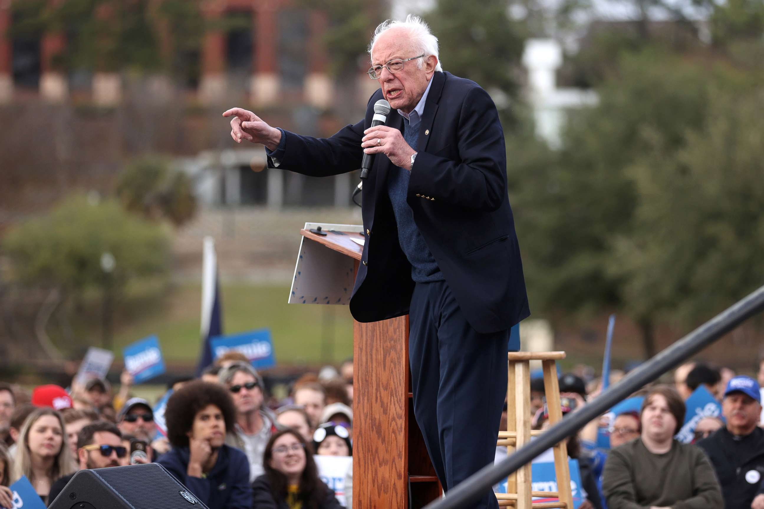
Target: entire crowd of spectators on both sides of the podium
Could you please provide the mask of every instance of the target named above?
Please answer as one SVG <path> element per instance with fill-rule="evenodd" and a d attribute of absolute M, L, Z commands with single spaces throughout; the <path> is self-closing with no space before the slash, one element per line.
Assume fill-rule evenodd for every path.
<path fill-rule="evenodd" d="M 614 372 L 611 382 L 622 375 Z M 22 476 L 50 505 L 80 469 L 145 462 L 164 466 L 211 509 L 351 507 L 351 463 L 343 499 L 325 484 L 316 456 L 352 456 L 352 379 L 349 360 L 339 371 L 303 375 L 276 400 L 244 356 L 228 353 L 199 379 L 171 384 L 162 419 L 155 404 L 133 397 L 127 373 L 116 394 L 104 379 L 31 393 L 0 383 L 0 507 L 13 507 L 8 486 Z M 762 385 L 764 361 L 758 381 L 689 362 L 676 369 L 673 385 L 633 395 L 638 408 L 569 437 L 581 508 L 764 509 Z M 559 386 L 565 416 L 596 398 L 601 380 L 581 368 L 562 375 Z M 721 412 L 698 419 L 693 440 L 683 443 L 677 436 L 685 401 L 701 386 Z M 542 379 L 530 389 L 533 427 L 545 430 Z M 497 448 L 497 459 L 502 454 L 506 449 Z"/>

